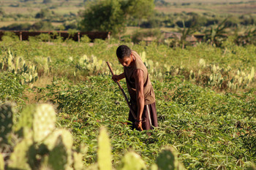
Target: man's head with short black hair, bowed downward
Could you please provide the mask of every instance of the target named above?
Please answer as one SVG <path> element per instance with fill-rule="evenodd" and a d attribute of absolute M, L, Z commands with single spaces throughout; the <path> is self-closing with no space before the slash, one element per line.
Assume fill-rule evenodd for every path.
<path fill-rule="evenodd" d="M 132 50 L 126 45 L 120 45 L 116 50 L 116 56 L 118 58 L 118 61 L 123 66 L 129 66 L 130 63 L 133 61 L 131 55 Z"/>

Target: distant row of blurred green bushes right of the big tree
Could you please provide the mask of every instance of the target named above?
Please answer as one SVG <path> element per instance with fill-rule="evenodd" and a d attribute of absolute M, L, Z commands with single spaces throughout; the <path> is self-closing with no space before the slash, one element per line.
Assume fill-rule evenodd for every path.
<path fill-rule="evenodd" d="M 256 23 L 256 18 L 252 15 L 215 15 L 212 13 L 195 13 L 195 12 L 181 12 L 173 14 L 165 14 L 164 12 L 156 12 L 151 18 L 144 20 L 140 27 L 143 28 L 189 28 L 193 24 L 197 27 L 208 27 L 214 24 L 221 23 L 225 18 L 229 18 L 225 25 L 227 27 L 238 26 L 253 26 Z M 183 25 L 184 21 L 184 25 Z M 129 23 L 129 26 L 136 26 L 136 23 Z"/>

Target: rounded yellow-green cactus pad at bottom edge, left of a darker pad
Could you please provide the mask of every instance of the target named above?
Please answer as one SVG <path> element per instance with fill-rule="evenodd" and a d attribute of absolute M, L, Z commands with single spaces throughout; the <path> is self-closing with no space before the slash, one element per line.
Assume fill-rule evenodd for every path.
<path fill-rule="evenodd" d="M 146 164 L 135 152 L 127 152 L 121 160 L 118 170 L 142 170 L 146 169 Z"/>

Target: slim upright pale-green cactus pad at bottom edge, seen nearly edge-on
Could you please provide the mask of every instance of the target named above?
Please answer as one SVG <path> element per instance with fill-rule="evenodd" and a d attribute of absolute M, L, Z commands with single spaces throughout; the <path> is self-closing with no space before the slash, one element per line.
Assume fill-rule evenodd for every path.
<path fill-rule="evenodd" d="M 102 128 L 99 132 L 97 154 L 98 154 L 97 156 L 98 156 L 99 170 L 112 169 L 110 140 L 108 138 L 108 133 L 105 128 Z"/>

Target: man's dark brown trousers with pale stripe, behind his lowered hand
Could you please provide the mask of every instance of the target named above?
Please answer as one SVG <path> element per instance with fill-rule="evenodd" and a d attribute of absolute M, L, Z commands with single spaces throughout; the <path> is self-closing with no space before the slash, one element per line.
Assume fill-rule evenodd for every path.
<path fill-rule="evenodd" d="M 133 105 L 132 108 L 135 111 L 135 115 L 138 114 L 137 105 Z M 132 123 L 128 123 L 131 126 L 132 130 L 135 129 L 135 118 L 132 116 L 132 112 L 129 112 L 128 120 Z M 142 128 L 143 130 L 152 130 L 154 127 L 157 127 L 157 109 L 156 103 L 148 104 L 144 106 L 143 114 L 142 114 Z"/>

